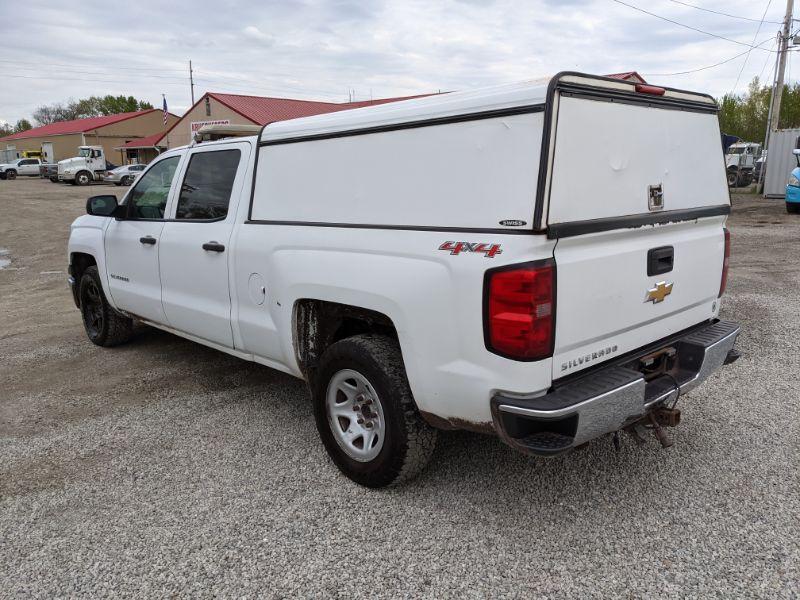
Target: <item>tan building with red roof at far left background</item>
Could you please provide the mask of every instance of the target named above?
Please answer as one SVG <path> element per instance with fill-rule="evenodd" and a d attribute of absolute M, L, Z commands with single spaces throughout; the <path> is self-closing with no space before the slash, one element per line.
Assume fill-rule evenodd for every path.
<path fill-rule="evenodd" d="M 179 121 L 167 114 L 167 127 Z M 157 108 L 136 112 L 59 121 L 0 138 L 0 150 L 21 156 L 24 151 L 41 151 L 46 162 L 76 156 L 79 146 L 102 146 L 106 159 L 123 162 L 119 147 L 136 140 L 163 135 L 164 113 Z"/>

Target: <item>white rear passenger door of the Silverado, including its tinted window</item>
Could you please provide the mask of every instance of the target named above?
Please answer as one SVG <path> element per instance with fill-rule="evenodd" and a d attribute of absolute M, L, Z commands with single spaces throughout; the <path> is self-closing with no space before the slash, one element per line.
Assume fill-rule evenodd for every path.
<path fill-rule="evenodd" d="M 233 348 L 230 238 L 249 142 L 193 149 L 161 235 L 161 300 L 172 327 Z"/>

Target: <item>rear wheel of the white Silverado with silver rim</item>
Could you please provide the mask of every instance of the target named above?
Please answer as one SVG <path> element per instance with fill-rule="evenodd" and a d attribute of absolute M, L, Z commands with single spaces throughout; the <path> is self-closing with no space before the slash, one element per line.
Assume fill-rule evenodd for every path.
<path fill-rule="evenodd" d="M 436 447 L 408 385 L 400 346 L 365 334 L 333 344 L 314 378 L 322 443 L 347 477 L 381 488 L 416 477 Z"/>

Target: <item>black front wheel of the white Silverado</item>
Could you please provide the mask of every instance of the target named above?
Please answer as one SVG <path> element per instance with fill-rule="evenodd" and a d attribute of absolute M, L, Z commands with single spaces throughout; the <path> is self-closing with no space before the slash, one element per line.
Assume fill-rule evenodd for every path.
<path fill-rule="evenodd" d="M 133 321 L 108 303 L 97 267 L 88 267 L 83 272 L 79 294 L 83 327 L 92 343 L 109 348 L 131 339 Z"/>

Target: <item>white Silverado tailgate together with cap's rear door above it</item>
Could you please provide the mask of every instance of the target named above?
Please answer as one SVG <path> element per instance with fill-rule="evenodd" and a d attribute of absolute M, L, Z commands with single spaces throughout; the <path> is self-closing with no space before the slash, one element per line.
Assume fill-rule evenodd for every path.
<path fill-rule="evenodd" d="M 572 91 L 556 119 L 559 378 L 716 316 L 730 202 L 713 107 Z"/>

